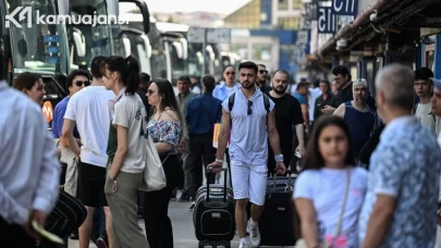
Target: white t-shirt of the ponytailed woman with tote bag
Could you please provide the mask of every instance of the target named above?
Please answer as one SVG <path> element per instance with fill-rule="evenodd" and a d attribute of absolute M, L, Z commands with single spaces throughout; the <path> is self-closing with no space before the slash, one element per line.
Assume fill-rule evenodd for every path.
<path fill-rule="evenodd" d="M 113 124 L 127 127 L 127 154 L 121 171 L 126 173 L 140 173 L 146 165 L 145 149 L 147 141 L 147 116 L 140 97 L 123 95 L 114 104 Z"/>

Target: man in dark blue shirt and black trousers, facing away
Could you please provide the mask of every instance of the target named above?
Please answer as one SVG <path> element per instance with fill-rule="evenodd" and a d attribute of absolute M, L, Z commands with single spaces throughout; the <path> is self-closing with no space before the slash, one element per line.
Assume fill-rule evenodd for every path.
<path fill-rule="evenodd" d="M 215 160 L 213 127 L 222 117 L 222 102 L 212 96 L 215 87 L 215 77 L 205 76 L 203 78 L 204 94 L 191 99 L 185 111 L 189 152 L 184 163 L 186 187 L 181 196 L 181 201 L 196 198 L 196 191 L 203 185 L 203 163 L 208 165 Z M 207 181 L 213 184 L 215 174 L 208 176 Z"/>

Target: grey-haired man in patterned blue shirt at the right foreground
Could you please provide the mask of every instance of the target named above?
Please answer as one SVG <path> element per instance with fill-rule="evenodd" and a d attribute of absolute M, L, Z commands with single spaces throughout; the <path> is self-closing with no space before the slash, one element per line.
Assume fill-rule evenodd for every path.
<path fill-rule="evenodd" d="M 385 128 L 370 158 L 359 247 L 433 247 L 441 150 L 433 133 L 411 115 L 413 71 L 389 65 L 377 75 L 376 88 Z"/>

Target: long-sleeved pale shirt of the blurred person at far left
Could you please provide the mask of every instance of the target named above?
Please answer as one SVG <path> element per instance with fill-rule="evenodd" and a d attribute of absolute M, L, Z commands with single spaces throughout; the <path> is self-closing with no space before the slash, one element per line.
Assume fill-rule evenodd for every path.
<path fill-rule="evenodd" d="M 23 225 L 32 210 L 52 211 L 61 166 L 41 108 L 4 80 L 0 106 L 0 215 Z"/>

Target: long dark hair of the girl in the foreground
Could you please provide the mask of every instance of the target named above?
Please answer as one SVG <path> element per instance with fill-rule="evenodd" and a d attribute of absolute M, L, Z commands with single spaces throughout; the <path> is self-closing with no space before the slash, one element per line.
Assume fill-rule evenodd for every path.
<path fill-rule="evenodd" d="M 338 126 L 346 135 L 348 150 L 344 162 L 346 165 L 355 166 L 354 151 L 352 149 L 350 127 L 343 119 L 333 115 L 322 115 L 314 124 L 313 136 L 308 140 L 306 156 L 302 160 L 302 171 L 318 170 L 324 168 L 324 160 L 319 150 L 319 137 L 324 127 Z"/>

